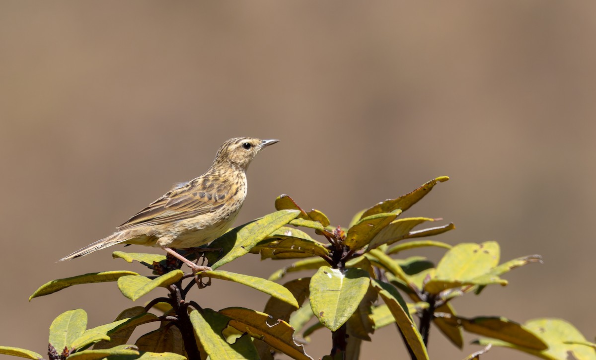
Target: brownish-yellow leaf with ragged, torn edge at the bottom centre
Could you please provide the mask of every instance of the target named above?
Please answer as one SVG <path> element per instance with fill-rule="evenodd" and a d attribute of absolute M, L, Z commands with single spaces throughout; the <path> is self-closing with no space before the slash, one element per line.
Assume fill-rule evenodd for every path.
<path fill-rule="evenodd" d="M 275 321 L 263 312 L 244 308 L 226 308 L 219 313 L 232 319 L 229 322 L 231 327 L 246 331 L 250 336 L 262 340 L 291 358 L 312 360 L 311 356 L 306 355 L 304 346 L 294 341 L 294 329 L 287 322 Z"/>

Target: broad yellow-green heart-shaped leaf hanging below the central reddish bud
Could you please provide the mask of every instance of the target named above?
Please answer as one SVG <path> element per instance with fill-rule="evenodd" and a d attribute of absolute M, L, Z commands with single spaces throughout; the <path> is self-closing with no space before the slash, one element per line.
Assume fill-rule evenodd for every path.
<path fill-rule="evenodd" d="M 358 309 L 370 285 L 368 272 L 321 266 L 311 278 L 311 308 L 321 324 L 336 331 Z"/>

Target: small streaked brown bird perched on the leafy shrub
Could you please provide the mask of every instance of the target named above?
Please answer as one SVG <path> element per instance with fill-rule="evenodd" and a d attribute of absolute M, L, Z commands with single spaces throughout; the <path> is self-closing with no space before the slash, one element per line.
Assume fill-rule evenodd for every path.
<path fill-rule="evenodd" d="M 233 138 L 224 142 L 206 173 L 153 201 L 118 231 L 60 261 L 85 256 L 116 244 L 162 247 L 191 268 L 202 268 L 171 248 L 187 249 L 207 244 L 223 235 L 240 212 L 246 198 L 246 169 L 256 154 L 279 140 Z"/>

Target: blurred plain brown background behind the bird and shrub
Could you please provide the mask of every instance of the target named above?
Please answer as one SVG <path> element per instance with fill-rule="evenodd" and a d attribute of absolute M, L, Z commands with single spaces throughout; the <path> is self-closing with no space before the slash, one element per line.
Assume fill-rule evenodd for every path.
<path fill-rule="evenodd" d="M 595 36 L 593 1 L 0 2 L 2 345 L 45 353 L 61 312 L 82 307 L 92 327 L 147 301 L 113 283 L 27 297 L 54 278 L 140 270 L 111 249 L 55 261 L 203 173 L 233 136 L 281 139 L 251 166 L 238 225 L 282 193 L 346 225 L 449 175 L 408 215 L 455 222 L 437 240 L 545 259 L 455 308 L 564 318 L 593 340 Z M 247 256 L 225 269 L 283 265 Z M 214 283 L 193 293 L 201 305 L 266 301 Z M 378 331 L 363 358 L 395 354 L 398 339 Z M 433 359 L 477 349 L 431 333 Z M 329 334 L 307 350 L 328 353 Z"/>

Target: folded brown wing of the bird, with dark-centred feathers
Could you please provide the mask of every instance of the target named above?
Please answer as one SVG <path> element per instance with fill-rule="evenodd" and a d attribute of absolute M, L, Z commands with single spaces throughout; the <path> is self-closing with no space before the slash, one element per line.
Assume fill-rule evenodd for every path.
<path fill-rule="evenodd" d="M 166 224 L 219 209 L 224 206 L 227 194 L 224 194 L 221 188 L 216 191 L 210 180 L 212 179 L 197 178 L 187 183 L 176 184 L 172 190 L 153 201 L 117 229 L 122 231 L 137 225 Z"/>

